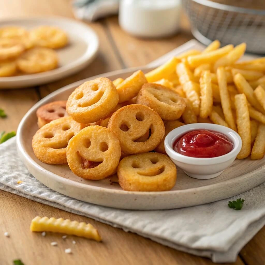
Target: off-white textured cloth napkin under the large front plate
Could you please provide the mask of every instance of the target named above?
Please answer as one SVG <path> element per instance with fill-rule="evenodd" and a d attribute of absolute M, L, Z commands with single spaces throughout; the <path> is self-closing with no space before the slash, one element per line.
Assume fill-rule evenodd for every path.
<path fill-rule="evenodd" d="M 47 188 L 30 175 L 19 159 L 15 141 L 14 137 L 0 145 L 0 189 L 211 258 L 213 262 L 234 262 L 241 248 L 265 224 L 265 183 L 236 197 L 200 206 L 118 210 L 78 201 Z M 23 182 L 17 184 L 18 180 Z M 242 210 L 227 206 L 229 200 L 240 197 L 245 199 Z"/>

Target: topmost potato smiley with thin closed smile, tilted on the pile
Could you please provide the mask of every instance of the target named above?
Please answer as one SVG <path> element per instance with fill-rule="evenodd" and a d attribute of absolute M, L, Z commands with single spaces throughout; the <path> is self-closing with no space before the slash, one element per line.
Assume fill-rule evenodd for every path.
<path fill-rule="evenodd" d="M 66 110 L 75 121 L 91 123 L 107 117 L 118 100 L 117 89 L 111 80 L 100 77 L 77 87 L 67 100 Z"/>

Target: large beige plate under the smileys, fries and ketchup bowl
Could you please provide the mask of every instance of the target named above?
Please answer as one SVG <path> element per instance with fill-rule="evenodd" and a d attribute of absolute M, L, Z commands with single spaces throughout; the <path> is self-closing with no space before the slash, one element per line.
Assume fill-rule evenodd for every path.
<path fill-rule="evenodd" d="M 191 45 L 192 43 L 192 45 Z M 190 48 L 202 48 L 197 42 L 189 42 L 174 52 L 174 55 Z M 172 53 L 172 52 L 171 52 Z M 173 54 L 171 54 L 173 56 Z M 166 56 L 165 56 L 166 58 Z M 163 60 L 157 63 L 163 63 Z M 150 67 L 142 68 L 145 72 Z M 114 80 L 126 78 L 136 69 L 125 69 L 99 75 Z M 36 110 L 54 100 L 66 100 L 70 93 L 84 81 L 63 87 L 34 105 L 21 120 L 17 129 L 17 150 L 29 172 L 47 187 L 81 201 L 121 209 L 153 210 L 194 206 L 228 198 L 245 192 L 265 181 L 265 159 L 250 161 L 236 160 L 220 176 L 199 180 L 188 177 L 178 169 L 175 187 L 165 192 L 128 192 L 109 179 L 92 181 L 74 175 L 68 165 L 47 165 L 40 162 L 31 147 L 32 136 L 37 131 Z"/>

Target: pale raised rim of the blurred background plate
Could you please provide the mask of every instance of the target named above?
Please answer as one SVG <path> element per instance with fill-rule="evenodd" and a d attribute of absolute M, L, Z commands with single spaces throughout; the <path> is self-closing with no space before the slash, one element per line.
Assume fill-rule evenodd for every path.
<path fill-rule="evenodd" d="M 19 21 L 36 21 L 36 20 L 47 20 L 47 21 L 60 21 L 60 22 L 66 22 L 78 25 L 79 27 L 82 27 L 83 29 L 89 31 L 89 34 L 91 36 L 91 42 L 89 42 L 89 45 L 85 51 L 84 54 L 82 54 L 81 57 L 77 58 L 73 62 L 68 63 L 67 65 L 63 65 L 61 67 L 58 67 L 56 69 L 52 69 L 46 72 L 41 73 L 35 73 L 35 74 L 25 74 L 21 76 L 8 76 L 8 77 L 0 77 L 0 85 L 2 83 L 9 83 L 9 85 L 12 85 L 12 83 L 17 82 L 29 82 L 34 83 L 38 81 L 41 78 L 50 78 L 53 81 L 56 80 L 56 78 L 61 79 L 65 77 L 69 73 L 74 73 L 82 68 L 84 68 L 87 64 L 89 64 L 97 55 L 99 50 L 99 38 L 97 33 L 92 29 L 89 25 L 86 23 L 75 20 L 68 17 L 62 17 L 62 16 L 30 16 L 30 17 L 16 17 L 16 18 L 4 18 L 0 21 L 0 27 L 5 23 L 10 23 L 14 21 L 14 23 L 18 23 Z M 88 42 L 87 42 L 88 43 Z M 76 70 L 76 68 L 78 68 Z M 48 75 L 48 76 L 47 76 Z M 63 75 L 61 77 L 57 77 L 58 75 Z M 43 82 L 41 82 L 43 83 Z M 15 84 L 14 84 L 15 85 Z M 36 85 L 36 84 L 35 84 Z M 30 85 L 29 85 L 30 86 Z"/>

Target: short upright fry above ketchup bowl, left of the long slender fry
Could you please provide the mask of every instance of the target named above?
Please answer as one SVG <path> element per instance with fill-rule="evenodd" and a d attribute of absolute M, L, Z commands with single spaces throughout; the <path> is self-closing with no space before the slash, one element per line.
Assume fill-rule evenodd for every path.
<path fill-rule="evenodd" d="M 210 71 L 204 71 L 200 78 L 201 108 L 200 117 L 207 118 L 213 109 L 213 89 Z"/>

